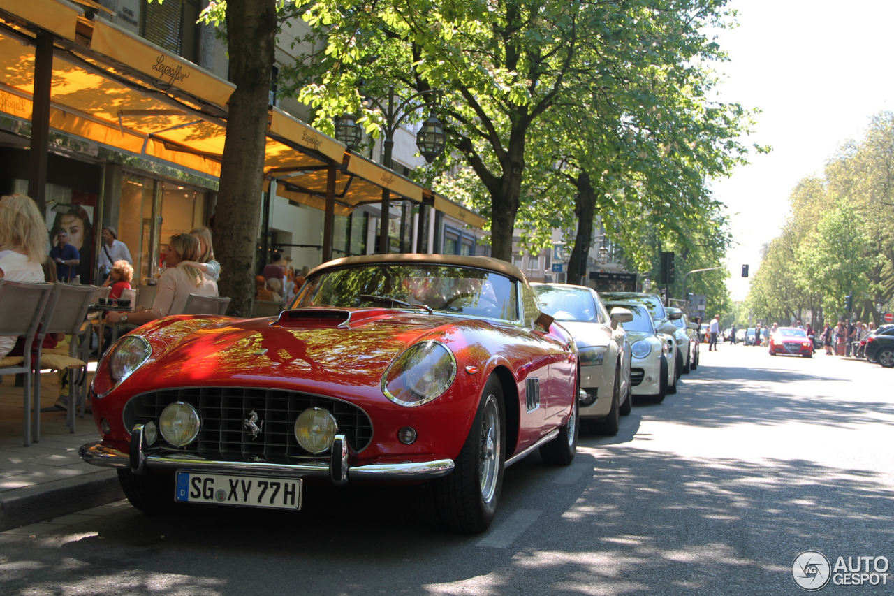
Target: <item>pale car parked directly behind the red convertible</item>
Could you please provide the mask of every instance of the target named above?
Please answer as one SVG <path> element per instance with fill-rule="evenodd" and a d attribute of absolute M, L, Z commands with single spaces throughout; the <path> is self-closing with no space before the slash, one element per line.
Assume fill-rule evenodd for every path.
<path fill-rule="evenodd" d="M 611 315 L 599 294 L 583 285 L 531 284 L 540 310 L 568 329 L 578 345 L 580 420 L 597 432 L 618 433 L 620 415 L 630 413 L 630 345 L 620 326 L 633 319 L 625 309 Z M 620 324 L 619 324 L 620 323 Z M 586 428 L 585 425 L 581 429 Z M 592 428 L 592 427 L 591 427 Z"/>

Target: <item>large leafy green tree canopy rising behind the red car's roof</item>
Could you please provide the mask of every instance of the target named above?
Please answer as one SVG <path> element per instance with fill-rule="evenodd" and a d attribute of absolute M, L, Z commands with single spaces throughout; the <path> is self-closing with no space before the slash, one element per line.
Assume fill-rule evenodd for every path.
<path fill-rule="evenodd" d="M 517 226 L 536 244 L 574 222 L 580 172 L 594 200 L 663 208 L 658 225 L 679 227 L 683 242 L 682 222 L 713 210 L 705 177 L 741 149 L 745 113 L 704 99 L 713 80 L 703 64 L 723 57 L 704 29 L 724 26 L 725 4 L 321 0 L 306 15 L 316 49 L 283 79 L 295 81 L 323 130 L 352 111 L 375 132 L 382 115 L 361 96 L 382 97 L 389 85 L 404 95 L 442 91 L 418 112 L 436 112 L 449 134 L 430 174 L 474 172 L 477 180 L 460 173 L 441 187 L 491 219 L 495 257 L 510 260 Z M 564 181 L 552 179 L 557 171 Z"/>

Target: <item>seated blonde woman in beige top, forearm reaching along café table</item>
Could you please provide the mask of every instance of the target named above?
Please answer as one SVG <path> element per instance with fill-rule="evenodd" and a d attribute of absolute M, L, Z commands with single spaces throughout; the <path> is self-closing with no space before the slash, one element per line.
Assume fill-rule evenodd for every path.
<path fill-rule="evenodd" d="M 197 268 L 186 261 L 198 260 L 198 240 L 190 234 L 171 236 L 171 242 L 164 249 L 164 273 L 158 280 L 156 302 L 152 308 L 132 313 L 108 312 L 105 320 L 111 323 L 129 323 L 144 325 L 149 321 L 161 319 L 168 315 L 182 314 L 190 294 L 200 296 L 216 296 L 217 284 Z"/>

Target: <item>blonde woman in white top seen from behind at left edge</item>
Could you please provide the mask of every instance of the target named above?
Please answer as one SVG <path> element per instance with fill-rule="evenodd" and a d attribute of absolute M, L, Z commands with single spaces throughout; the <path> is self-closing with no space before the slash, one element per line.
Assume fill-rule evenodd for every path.
<path fill-rule="evenodd" d="M 0 277 L 42 284 L 46 260 L 46 223 L 38 206 L 24 194 L 0 199 Z M 15 345 L 15 337 L 0 336 L 0 358 Z"/>

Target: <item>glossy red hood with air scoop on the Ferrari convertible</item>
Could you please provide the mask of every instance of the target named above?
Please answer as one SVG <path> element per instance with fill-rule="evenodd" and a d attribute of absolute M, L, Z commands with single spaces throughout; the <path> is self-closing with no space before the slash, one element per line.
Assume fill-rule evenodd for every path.
<path fill-rule="evenodd" d="M 306 316 L 314 312 L 326 317 Z M 300 316 L 291 318 L 290 313 Z M 345 313 L 349 319 L 330 318 L 333 313 Z M 449 345 L 462 328 L 492 325 L 480 319 L 379 309 L 284 311 L 280 319 L 185 327 L 194 321 L 183 319 L 143 334 L 153 344 L 153 355 L 138 371 L 143 373 L 141 384 L 246 387 L 263 381 L 265 387 L 298 385 L 308 391 L 377 387 L 394 357 L 420 339 Z M 184 326 L 181 335 L 169 339 L 177 334 L 177 323 Z"/>

